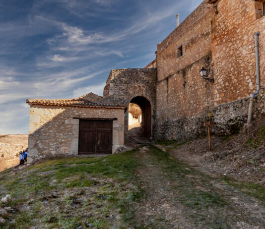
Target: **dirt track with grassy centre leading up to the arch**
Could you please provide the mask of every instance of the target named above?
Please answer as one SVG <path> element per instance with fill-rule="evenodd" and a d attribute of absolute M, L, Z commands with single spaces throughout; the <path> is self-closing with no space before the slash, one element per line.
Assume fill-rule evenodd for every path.
<path fill-rule="evenodd" d="M 137 176 L 144 190 L 136 219 L 155 229 L 264 229 L 265 208 L 218 178 L 142 146 Z"/>

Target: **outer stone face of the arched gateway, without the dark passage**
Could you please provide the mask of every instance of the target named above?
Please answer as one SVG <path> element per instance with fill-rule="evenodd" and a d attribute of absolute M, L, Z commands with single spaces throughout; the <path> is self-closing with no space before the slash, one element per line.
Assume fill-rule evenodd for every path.
<path fill-rule="evenodd" d="M 104 88 L 103 97 L 111 103 L 128 105 L 134 97 L 141 96 L 151 104 L 152 125 L 155 119 L 155 68 L 114 69 Z M 128 133 L 128 111 L 125 114 L 125 136 Z"/>

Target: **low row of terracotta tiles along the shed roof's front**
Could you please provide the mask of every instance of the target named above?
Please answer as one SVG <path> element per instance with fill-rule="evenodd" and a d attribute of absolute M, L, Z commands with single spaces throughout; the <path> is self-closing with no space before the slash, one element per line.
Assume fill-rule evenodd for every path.
<path fill-rule="evenodd" d="M 85 108 L 114 108 L 126 109 L 126 105 L 105 104 L 100 102 L 92 102 L 85 99 L 29 99 L 29 105 L 45 105 L 45 106 L 61 106 L 61 107 L 85 107 Z"/>

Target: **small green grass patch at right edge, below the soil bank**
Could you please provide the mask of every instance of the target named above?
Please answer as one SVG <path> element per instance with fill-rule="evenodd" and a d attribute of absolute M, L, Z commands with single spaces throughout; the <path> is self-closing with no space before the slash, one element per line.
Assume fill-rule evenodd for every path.
<path fill-rule="evenodd" d="M 240 191 L 260 200 L 265 206 L 265 188 L 261 184 L 237 181 L 231 177 L 224 177 L 224 181 Z"/>

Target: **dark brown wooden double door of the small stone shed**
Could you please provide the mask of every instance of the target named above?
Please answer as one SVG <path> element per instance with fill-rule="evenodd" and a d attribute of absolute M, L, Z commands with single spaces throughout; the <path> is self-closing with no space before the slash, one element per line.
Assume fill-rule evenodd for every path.
<path fill-rule="evenodd" d="M 78 155 L 112 154 L 112 121 L 79 120 Z"/>

